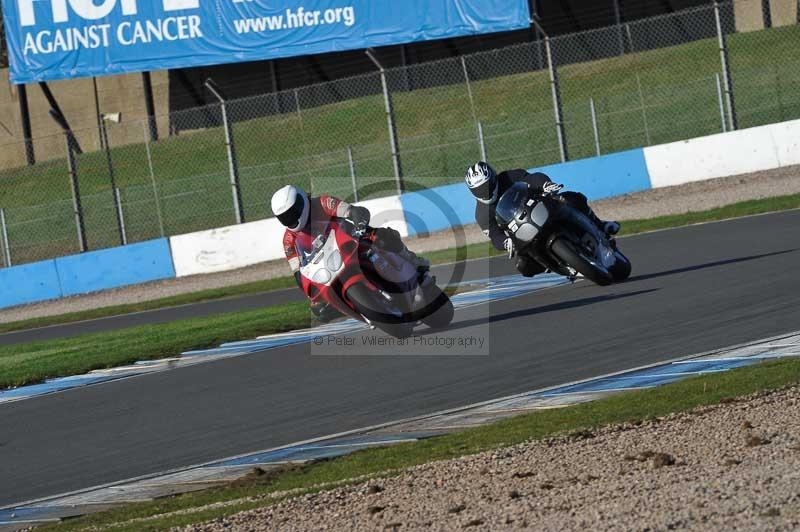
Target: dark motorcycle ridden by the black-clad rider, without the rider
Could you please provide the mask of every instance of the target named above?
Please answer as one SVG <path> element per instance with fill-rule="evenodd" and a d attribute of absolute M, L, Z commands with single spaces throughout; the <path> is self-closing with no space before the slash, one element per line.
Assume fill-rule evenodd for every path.
<path fill-rule="evenodd" d="M 607 286 L 624 281 L 631 263 L 609 237 L 558 195 L 536 194 L 515 183 L 500 198 L 496 219 L 517 253 L 552 272 Z"/>

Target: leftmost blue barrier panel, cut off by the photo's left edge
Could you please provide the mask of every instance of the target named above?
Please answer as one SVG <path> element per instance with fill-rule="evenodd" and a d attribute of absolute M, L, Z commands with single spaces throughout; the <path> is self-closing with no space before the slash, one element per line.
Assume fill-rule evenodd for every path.
<path fill-rule="evenodd" d="M 61 297 L 53 260 L 0 270 L 0 308 Z"/>

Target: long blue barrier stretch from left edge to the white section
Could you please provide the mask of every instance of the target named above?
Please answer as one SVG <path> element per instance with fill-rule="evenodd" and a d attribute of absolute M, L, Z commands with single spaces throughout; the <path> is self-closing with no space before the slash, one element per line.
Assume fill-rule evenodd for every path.
<path fill-rule="evenodd" d="M 174 277 L 162 238 L 0 270 L 0 308 Z"/>

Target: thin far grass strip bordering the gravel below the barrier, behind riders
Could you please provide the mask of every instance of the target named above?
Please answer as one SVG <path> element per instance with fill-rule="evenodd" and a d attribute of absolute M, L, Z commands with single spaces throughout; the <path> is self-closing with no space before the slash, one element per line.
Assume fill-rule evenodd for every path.
<path fill-rule="evenodd" d="M 676 214 L 671 216 L 661 216 L 658 218 L 651 218 L 646 220 L 629 220 L 623 223 L 622 231 L 620 234 L 633 235 L 638 233 L 644 233 L 647 231 L 669 229 L 671 227 L 682 227 L 685 225 L 701 223 L 701 222 L 727 220 L 732 218 L 739 218 L 742 216 L 749 216 L 753 214 L 779 212 L 797 208 L 800 208 L 800 194 L 793 194 L 789 196 L 777 196 L 774 198 L 766 198 L 760 200 L 751 200 L 740 203 L 734 203 L 731 205 L 727 205 L 717 209 L 710 209 L 707 211 L 689 212 L 686 214 Z M 457 260 L 459 257 L 467 257 L 469 259 L 479 259 L 484 257 L 502 255 L 502 254 L 503 252 L 497 251 L 491 245 L 489 245 L 488 242 L 487 243 L 481 242 L 478 244 L 470 244 L 468 246 L 465 246 L 461 250 L 459 250 L 458 248 L 451 248 L 451 249 L 426 253 L 425 256 L 433 264 L 446 264 Z M 132 312 L 141 312 L 145 310 L 155 310 L 155 309 L 173 307 L 178 305 L 187 305 L 191 303 L 211 301 L 226 297 L 251 295 L 259 292 L 267 292 L 270 290 L 291 288 L 294 286 L 295 283 L 291 277 L 279 277 L 265 281 L 258 281 L 255 283 L 241 284 L 226 288 L 218 288 L 214 290 L 204 290 L 202 292 L 183 294 L 163 299 L 157 299 L 153 301 L 135 303 L 131 305 L 117 305 L 113 307 L 103 307 L 83 312 L 74 312 L 70 314 L 61 314 L 58 316 L 34 318 L 30 320 L 0 324 L 0 334 L 6 332 L 20 331 L 25 329 L 33 329 L 36 327 L 46 327 L 49 325 L 74 323 L 84 320 L 106 318 L 109 316 L 119 316 L 122 314 L 129 314 Z M 264 301 L 265 302 L 269 301 L 269 295 L 265 294 Z"/>

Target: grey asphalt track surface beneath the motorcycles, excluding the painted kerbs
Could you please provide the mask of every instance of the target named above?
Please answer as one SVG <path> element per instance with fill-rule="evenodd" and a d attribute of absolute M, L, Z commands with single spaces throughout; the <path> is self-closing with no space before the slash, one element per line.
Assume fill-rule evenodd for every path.
<path fill-rule="evenodd" d="M 798 227 L 791 211 L 626 238 L 625 284 L 460 311 L 443 337 L 488 346 L 462 356 L 293 346 L 2 405 L 0 506 L 795 331 Z"/>

